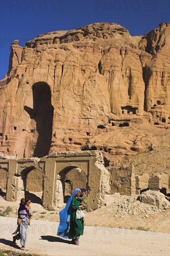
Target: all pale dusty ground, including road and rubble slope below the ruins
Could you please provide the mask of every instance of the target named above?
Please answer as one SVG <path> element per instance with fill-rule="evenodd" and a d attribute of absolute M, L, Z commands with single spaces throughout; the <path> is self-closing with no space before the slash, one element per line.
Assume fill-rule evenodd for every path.
<path fill-rule="evenodd" d="M 34 216 L 28 233 L 28 252 L 52 256 L 170 254 L 170 236 L 166 234 L 170 231 L 169 210 L 161 211 L 137 201 L 136 197 L 119 194 L 108 196 L 106 205 L 86 214 L 84 236 L 80 246 L 75 246 L 56 236 L 59 210 L 46 211 L 32 203 Z M 7 206 L 13 208 L 6 217 L 1 217 L 0 248 L 14 249 L 11 241 L 19 202 L 0 198 L 0 206 L 1 212 Z M 19 251 L 20 242 L 17 244 L 14 250 Z"/>

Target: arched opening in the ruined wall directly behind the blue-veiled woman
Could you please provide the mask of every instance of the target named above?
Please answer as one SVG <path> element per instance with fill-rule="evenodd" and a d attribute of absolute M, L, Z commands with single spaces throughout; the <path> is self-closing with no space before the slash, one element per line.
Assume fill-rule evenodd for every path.
<path fill-rule="evenodd" d="M 58 180 L 62 184 L 62 191 L 59 195 L 63 195 L 63 202 L 68 201 L 74 189 L 88 189 L 87 175 L 82 168 L 77 166 L 68 166 L 61 170 Z"/>

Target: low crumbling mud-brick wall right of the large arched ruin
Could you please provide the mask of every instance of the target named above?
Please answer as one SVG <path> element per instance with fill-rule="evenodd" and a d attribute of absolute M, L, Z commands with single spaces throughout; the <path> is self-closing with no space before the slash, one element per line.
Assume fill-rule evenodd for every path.
<path fill-rule="evenodd" d="M 170 175 L 161 173 L 150 176 L 147 173 L 135 175 L 133 165 L 107 168 L 110 175 L 110 194 L 140 195 L 145 190 L 159 190 L 164 195 L 170 194 Z"/>

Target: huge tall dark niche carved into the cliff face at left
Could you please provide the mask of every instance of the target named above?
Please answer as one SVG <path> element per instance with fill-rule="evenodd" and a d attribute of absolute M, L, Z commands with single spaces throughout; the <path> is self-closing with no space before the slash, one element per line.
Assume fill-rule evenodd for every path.
<path fill-rule="evenodd" d="M 45 82 L 33 84 L 33 108 L 24 109 L 34 121 L 30 133 L 33 156 L 48 155 L 52 141 L 53 106 L 51 104 L 51 89 Z"/>

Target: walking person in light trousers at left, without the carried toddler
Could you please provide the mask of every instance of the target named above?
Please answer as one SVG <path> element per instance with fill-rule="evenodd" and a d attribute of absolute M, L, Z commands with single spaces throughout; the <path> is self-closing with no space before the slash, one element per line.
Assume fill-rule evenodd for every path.
<path fill-rule="evenodd" d="M 19 232 L 19 234 L 13 236 L 13 244 L 16 244 L 16 240 L 20 239 L 20 244 L 22 246 L 20 248 L 21 250 L 27 250 L 26 249 L 27 228 L 28 228 L 28 225 L 30 225 L 31 216 L 33 216 L 33 211 L 31 209 L 30 203 L 31 203 L 31 198 L 28 196 L 26 197 L 26 205 L 25 205 L 28 215 L 26 215 L 25 221 L 23 221 L 23 219 L 20 219 L 20 218 L 17 219 L 18 227 L 16 231 L 13 233 L 15 235 Z"/>

